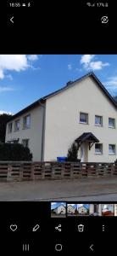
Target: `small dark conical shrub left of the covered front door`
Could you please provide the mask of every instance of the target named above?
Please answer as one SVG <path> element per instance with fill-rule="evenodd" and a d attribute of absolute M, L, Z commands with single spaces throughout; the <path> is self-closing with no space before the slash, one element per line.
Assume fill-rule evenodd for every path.
<path fill-rule="evenodd" d="M 68 149 L 67 160 L 77 161 L 78 147 L 75 143 L 72 143 L 71 147 Z"/>

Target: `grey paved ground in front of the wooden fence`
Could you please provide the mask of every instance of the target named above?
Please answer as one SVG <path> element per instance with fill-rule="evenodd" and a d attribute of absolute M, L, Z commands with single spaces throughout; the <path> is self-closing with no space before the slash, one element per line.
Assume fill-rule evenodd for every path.
<path fill-rule="evenodd" d="M 117 201 L 117 177 L 0 183 L 0 201 Z"/>

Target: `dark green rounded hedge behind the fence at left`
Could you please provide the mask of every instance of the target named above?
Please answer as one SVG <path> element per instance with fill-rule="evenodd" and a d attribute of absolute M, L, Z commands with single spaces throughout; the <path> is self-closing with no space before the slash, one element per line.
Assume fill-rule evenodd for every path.
<path fill-rule="evenodd" d="M 1 161 L 29 161 L 32 160 L 32 154 L 29 148 L 22 144 L 0 143 Z"/>

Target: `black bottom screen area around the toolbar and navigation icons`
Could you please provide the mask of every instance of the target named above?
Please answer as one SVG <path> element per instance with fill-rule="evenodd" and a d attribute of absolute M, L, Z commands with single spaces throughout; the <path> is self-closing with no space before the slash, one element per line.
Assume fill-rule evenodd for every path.
<path fill-rule="evenodd" d="M 87 202 L 86 202 L 87 203 Z M 116 249 L 117 217 L 66 217 L 51 218 L 50 202 L 1 202 L 0 214 L 1 254 L 56 254 L 114 253 Z M 16 231 L 10 224 L 17 224 Z M 40 224 L 40 229 L 32 228 Z M 55 230 L 58 224 L 62 231 Z M 84 224 L 84 231 L 78 232 L 78 224 Z M 103 232 L 103 224 L 105 226 Z M 30 245 L 29 252 L 23 252 L 23 244 Z M 62 244 L 61 252 L 55 250 Z M 93 244 L 93 252 L 90 247 Z"/>

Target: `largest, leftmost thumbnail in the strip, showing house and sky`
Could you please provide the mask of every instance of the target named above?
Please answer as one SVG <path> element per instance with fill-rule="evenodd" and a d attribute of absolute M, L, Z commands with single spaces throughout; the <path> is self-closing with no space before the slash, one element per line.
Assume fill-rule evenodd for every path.
<path fill-rule="evenodd" d="M 64 218 L 66 217 L 65 202 L 51 202 L 51 217 Z"/>

